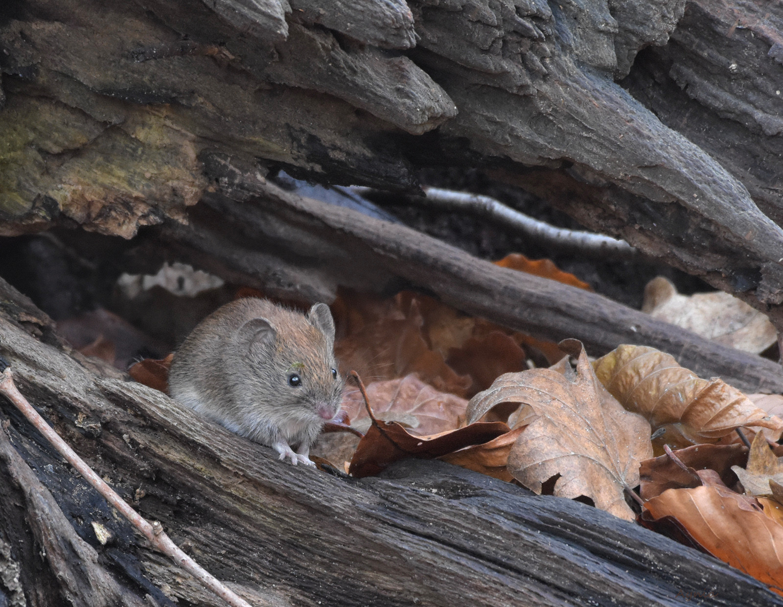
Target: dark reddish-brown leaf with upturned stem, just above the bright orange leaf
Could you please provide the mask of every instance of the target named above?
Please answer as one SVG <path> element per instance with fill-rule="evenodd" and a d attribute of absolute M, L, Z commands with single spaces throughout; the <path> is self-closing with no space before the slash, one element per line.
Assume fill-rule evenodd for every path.
<path fill-rule="evenodd" d="M 693 445 L 674 451 L 687 467 L 696 470 L 713 469 L 727 486 L 737 482 L 732 466 L 748 461 L 745 445 Z M 662 455 L 644 460 L 639 468 L 640 490 L 643 500 L 659 496 L 667 489 L 683 489 L 702 485 L 695 473 L 684 471 L 671 457 Z"/>

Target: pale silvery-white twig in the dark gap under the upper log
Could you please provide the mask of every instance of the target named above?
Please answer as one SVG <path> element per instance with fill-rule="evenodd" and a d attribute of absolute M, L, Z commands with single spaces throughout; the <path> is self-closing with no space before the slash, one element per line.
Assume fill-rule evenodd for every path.
<path fill-rule="evenodd" d="M 351 190 L 358 194 L 378 191 L 361 186 L 352 186 Z M 576 229 L 556 228 L 547 222 L 533 219 L 529 215 L 507 207 L 489 196 L 442 190 L 435 187 L 426 187 L 424 191 L 427 193 L 427 197 L 424 199 L 427 204 L 485 215 L 485 217 L 501 222 L 511 229 L 518 230 L 525 236 L 560 250 L 576 250 L 586 255 L 607 255 L 609 253 L 615 258 L 633 258 L 638 254 L 637 249 L 626 243 L 625 240 L 617 240 L 604 234 L 583 232 Z"/>

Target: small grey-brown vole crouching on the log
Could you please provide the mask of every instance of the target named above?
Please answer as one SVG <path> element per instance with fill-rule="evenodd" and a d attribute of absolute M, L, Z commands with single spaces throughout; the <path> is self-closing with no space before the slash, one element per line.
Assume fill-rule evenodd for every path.
<path fill-rule="evenodd" d="M 180 403 L 294 465 L 314 465 L 310 446 L 337 413 L 342 387 L 327 305 L 303 315 L 256 298 L 237 299 L 202 320 L 176 352 L 168 378 Z"/>

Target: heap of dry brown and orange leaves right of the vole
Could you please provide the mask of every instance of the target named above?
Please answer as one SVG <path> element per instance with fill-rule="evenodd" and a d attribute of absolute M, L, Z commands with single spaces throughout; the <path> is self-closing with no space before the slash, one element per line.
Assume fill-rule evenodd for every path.
<path fill-rule="evenodd" d="M 547 263 L 501 265 L 587 287 Z M 687 302 L 702 305 L 677 299 L 680 316 L 695 315 Z M 746 396 L 637 345 L 591 365 L 575 340 L 539 341 L 413 291 L 381 298 L 341 289 L 332 311 L 341 370 L 369 379 L 372 408 L 347 389 L 344 418 L 327 426 L 352 434 L 325 433 L 325 451 L 314 453 L 354 475 L 403 457 L 439 457 L 539 493 L 589 498 L 783 592 L 783 446 L 768 446 L 783 431 L 783 396 Z M 713 314 L 713 324 L 731 316 Z M 742 319 L 726 322 L 736 328 Z M 719 337 L 730 329 L 711 327 Z M 165 360 L 144 360 L 131 373 L 165 389 Z M 753 438 L 751 450 L 738 443 L 738 428 Z M 652 457 L 651 432 L 655 453 L 668 453 Z M 626 499 L 633 490 L 643 502 L 637 515 Z"/>

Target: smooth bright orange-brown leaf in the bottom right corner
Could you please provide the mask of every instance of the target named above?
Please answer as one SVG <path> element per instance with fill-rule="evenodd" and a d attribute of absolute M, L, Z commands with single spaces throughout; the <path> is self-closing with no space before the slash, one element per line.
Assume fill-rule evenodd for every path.
<path fill-rule="evenodd" d="M 676 518 L 709 552 L 783 594 L 783 526 L 755 498 L 719 486 L 669 489 L 644 503 L 651 518 Z"/>

